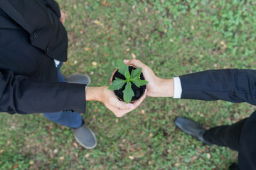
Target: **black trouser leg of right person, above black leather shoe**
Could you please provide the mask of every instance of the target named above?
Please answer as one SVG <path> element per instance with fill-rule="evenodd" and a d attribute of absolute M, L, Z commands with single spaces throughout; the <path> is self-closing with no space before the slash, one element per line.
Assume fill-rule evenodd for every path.
<path fill-rule="evenodd" d="M 222 125 L 206 130 L 203 134 L 204 140 L 222 147 L 238 151 L 242 127 L 247 118 L 240 120 L 233 125 Z"/>

